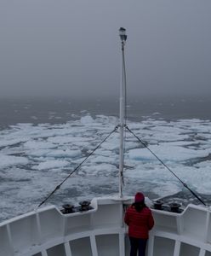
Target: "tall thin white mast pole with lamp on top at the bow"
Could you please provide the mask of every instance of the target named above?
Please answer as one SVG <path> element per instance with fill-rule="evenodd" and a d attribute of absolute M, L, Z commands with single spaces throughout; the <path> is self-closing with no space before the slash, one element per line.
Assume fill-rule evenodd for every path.
<path fill-rule="evenodd" d="M 122 47 L 122 68 L 121 68 L 121 83 L 120 83 L 120 101 L 119 101 L 119 125 L 120 125 L 120 145 L 119 145 L 119 197 L 123 198 L 123 148 L 124 148 L 124 126 L 125 126 L 125 91 L 126 91 L 126 72 L 124 61 L 124 45 L 127 35 L 123 27 L 119 29 L 119 36 Z"/>

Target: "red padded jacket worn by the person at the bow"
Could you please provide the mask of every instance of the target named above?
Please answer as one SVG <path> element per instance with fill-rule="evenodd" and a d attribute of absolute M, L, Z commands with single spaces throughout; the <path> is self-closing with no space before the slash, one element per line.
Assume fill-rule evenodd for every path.
<path fill-rule="evenodd" d="M 144 207 L 140 212 L 132 205 L 125 213 L 124 222 L 128 225 L 128 236 L 134 238 L 149 238 L 149 230 L 154 226 L 151 209 Z"/>

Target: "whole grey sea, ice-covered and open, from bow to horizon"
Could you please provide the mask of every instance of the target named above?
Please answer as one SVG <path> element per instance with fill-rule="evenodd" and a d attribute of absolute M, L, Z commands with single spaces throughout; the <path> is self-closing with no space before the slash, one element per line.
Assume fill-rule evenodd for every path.
<path fill-rule="evenodd" d="M 210 204 L 208 99 L 131 99 L 127 104 L 129 129 Z M 115 100 L 16 99 L 0 105 L 0 220 L 37 207 L 118 125 Z M 111 133 L 46 204 L 60 207 L 117 194 L 118 139 Z M 124 151 L 124 195 L 143 191 L 152 199 L 197 203 L 129 132 Z"/>

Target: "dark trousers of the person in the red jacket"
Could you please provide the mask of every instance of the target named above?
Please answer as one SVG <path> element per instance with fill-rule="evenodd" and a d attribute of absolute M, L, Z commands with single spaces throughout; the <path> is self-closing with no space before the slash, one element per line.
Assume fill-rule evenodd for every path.
<path fill-rule="evenodd" d="M 138 252 L 139 252 L 139 256 L 145 256 L 145 247 L 146 247 L 147 239 L 129 237 L 129 241 L 130 241 L 130 256 L 137 256 Z"/>

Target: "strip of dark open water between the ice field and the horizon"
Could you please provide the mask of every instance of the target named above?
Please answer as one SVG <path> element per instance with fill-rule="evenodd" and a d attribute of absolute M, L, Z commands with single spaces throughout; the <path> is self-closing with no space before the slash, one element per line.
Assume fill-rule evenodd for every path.
<path fill-rule="evenodd" d="M 118 101 L 112 99 L 1 99 L 0 128 L 17 123 L 66 123 L 84 111 L 91 115 L 118 115 Z M 143 116 L 157 119 L 211 119 L 209 97 L 165 97 L 129 99 L 128 119 L 139 121 Z"/>

